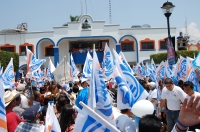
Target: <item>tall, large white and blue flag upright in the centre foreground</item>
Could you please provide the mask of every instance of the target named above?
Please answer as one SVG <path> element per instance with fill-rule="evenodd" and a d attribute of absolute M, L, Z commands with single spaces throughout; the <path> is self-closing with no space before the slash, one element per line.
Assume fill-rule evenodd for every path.
<path fill-rule="evenodd" d="M 93 51 L 92 78 L 90 82 L 91 87 L 89 94 L 90 96 L 88 99 L 88 106 L 94 108 L 100 116 L 102 116 L 104 119 L 115 126 L 110 94 L 108 93 L 106 88 L 96 51 Z M 93 102 L 94 105 L 92 105 L 90 102 Z"/>

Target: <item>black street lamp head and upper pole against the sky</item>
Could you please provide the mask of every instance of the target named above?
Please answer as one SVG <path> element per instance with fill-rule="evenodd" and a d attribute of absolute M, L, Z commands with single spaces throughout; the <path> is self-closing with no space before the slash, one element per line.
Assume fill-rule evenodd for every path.
<path fill-rule="evenodd" d="M 173 12 L 173 9 L 174 9 L 174 5 L 171 3 L 171 2 L 165 2 L 163 4 L 163 6 L 161 7 L 164 15 L 166 16 L 167 18 L 167 28 L 168 28 L 168 37 L 170 38 L 171 35 L 170 35 L 170 25 L 169 25 L 169 17 L 171 16 L 172 12 Z"/>

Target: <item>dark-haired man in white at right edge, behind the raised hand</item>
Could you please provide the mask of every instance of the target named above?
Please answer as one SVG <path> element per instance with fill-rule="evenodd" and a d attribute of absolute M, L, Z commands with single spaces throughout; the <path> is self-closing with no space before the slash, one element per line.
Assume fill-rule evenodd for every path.
<path fill-rule="evenodd" d="M 195 92 L 194 89 L 194 84 L 190 81 L 184 82 L 183 83 L 183 89 L 184 92 L 187 94 L 188 102 L 190 101 L 191 97 L 194 96 L 194 99 L 196 99 L 198 96 L 200 96 L 200 93 Z M 200 103 L 200 102 L 199 102 Z M 197 106 L 199 106 L 199 103 Z M 195 131 L 195 129 L 200 129 L 200 124 L 196 124 L 194 126 L 189 127 L 189 131 Z"/>

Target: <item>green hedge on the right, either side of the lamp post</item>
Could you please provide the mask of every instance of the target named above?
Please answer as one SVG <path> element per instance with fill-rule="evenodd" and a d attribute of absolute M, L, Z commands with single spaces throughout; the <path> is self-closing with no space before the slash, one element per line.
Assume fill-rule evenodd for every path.
<path fill-rule="evenodd" d="M 194 58 L 194 54 L 195 56 L 197 56 L 198 54 L 198 50 L 179 50 L 176 51 L 176 61 L 178 60 L 178 58 L 181 56 L 183 57 L 191 57 Z M 167 60 L 167 52 L 166 53 L 158 53 L 158 54 L 152 54 L 150 55 L 150 60 L 153 59 L 155 64 L 160 64 L 162 61 Z"/>

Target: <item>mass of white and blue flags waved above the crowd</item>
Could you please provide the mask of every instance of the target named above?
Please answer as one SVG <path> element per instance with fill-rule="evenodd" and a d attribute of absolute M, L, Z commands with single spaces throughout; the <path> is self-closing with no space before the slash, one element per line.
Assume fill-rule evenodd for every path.
<path fill-rule="evenodd" d="M 26 53 L 26 78 L 35 81 L 36 87 L 42 87 L 45 80 L 52 81 L 55 79 L 56 82 L 63 85 L 78 78 L 80 71 L 76 67 L 72 55 L 70 56 L 70 63 L 66 62 L 64 57 L 56 67 L 49 58 L 48 68 L 41 70 L 41 66 L 46 60 L 37 59 L 28 48 L 26 48 Z M 180 56 L 177 63 L 171 67 L 168 61 L 162 61 L 156 67 L 152 60 L 150 65 L 140 62 L 133 68 L 130 67 L 122 52 L 118 54 L 113 50 L 113 55 L 106 44 L 103 63 L 100 65 L 95 50 L 93 50 L 93 58 L 89 52 L 87 53 L 82 78 L 88 80 L 90 85 L 88 104 L 87 106 L 82 104 L 83 109 L 79 110 L 75 130 L 82 132 L 85 130 L 112 131 L 115 129 L 112 100 L 105 83 L 105 80 L 111 78 L 118 85 L 118 109 L 131 109 L 137 101 L 146 99 L 148 96 L 148 93 L 134 75 L 141 79 L 148 76 L 154 82 L 165 78 L 172 78 L 175 83 L 180 79 L 191 81 L 197 86 L 197 90 L 200 91 L 198 78 L 195 74 L 195 69 L 200 68 L 200 53 L 196 58 Z M 13 58 L 11 58 L 4 72 L 3 68 L 0 67 L 0 130 L 2 131 L 7 131 L 3 99 L 4 89 L 14 88 L 14 79 Z M 93 114 L 91 114 L 91 111 Z M 49 104 L 45 131 L 60 131 L 59 123 L 55 120 L 55 114 L 52 113 L 54 113 L 53 106 Z M 83 123 L 83 121 L 85 122 Z M 82 127 L 80 127 L 80 124 L 82 124 Z"/>

